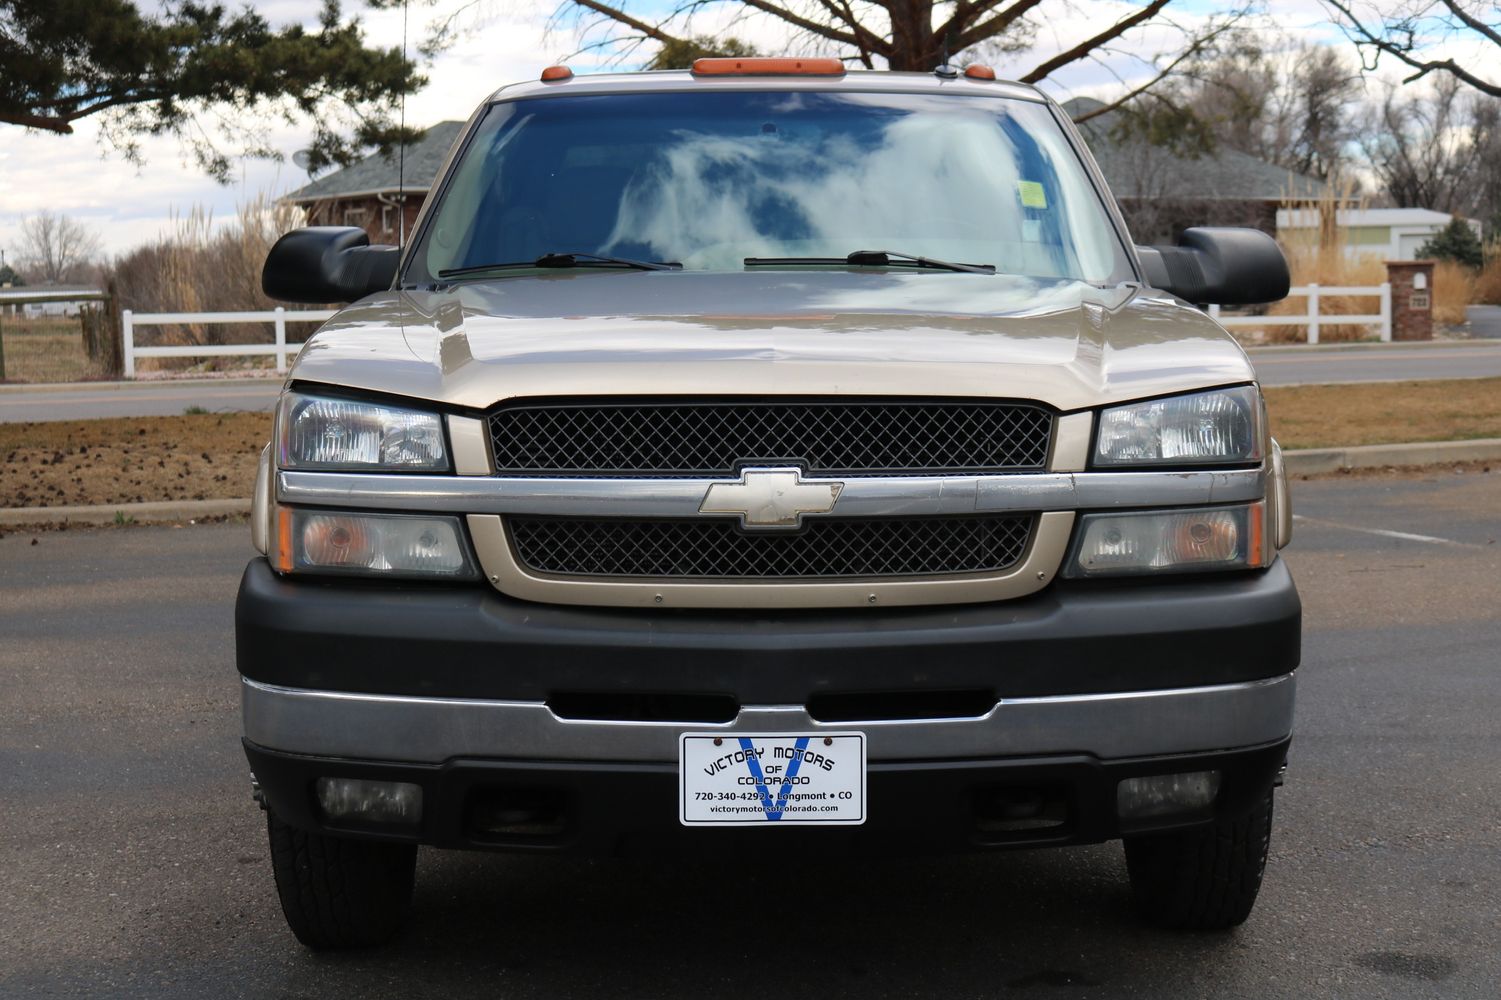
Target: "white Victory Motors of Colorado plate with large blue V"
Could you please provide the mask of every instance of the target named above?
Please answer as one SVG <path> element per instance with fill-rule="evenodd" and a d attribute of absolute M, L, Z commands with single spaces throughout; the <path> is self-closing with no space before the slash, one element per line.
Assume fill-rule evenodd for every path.
<path fill-rule="evenodd" d="M 683 826 L 865 823 L 865 733 L 683 733 Z"/>

